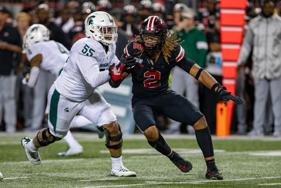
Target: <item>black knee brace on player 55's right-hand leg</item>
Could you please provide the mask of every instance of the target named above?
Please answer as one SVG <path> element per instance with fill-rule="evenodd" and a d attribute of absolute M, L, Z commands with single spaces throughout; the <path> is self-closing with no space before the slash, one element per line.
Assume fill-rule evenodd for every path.
<path fill-rule="evenodd" d="M 109 149 L 118 150 L 118 149 L 121 148 L 122 145 L 123 145 L 123 139 L 122 139 L 123 133 L 121 132 L 121 127 L 120 127 L 119 124 L 118 124 L 118 128 L 119 128 L 120 134 L 117 135 L 117 136 L 110 136 L 110 133 L 109 133 L 109 130 L 108 130 L 108 129 L 104 128 L 103 126 L 98 127 L 98 129 L 99 129 L 100 131 L 104 131 L 104 134 L 105 134 L 105 137 L 106 137 L 105 146 L 106 146 L 107 148 L 109 148 Z M 117 142 L 117 141 L 121 140 L 121 142 L 118 143 L 118 144 L 115 144 L 115 145 L 109 145 L 110 140 L 111 140 L 112 142 Z"/>

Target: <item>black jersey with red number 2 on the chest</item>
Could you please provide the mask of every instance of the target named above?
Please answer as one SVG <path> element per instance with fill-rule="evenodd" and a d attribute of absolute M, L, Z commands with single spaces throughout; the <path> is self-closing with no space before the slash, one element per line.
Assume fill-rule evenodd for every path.
<path fill-rule="evenodd" d="M 168 57 L 169 64 L 165 61 L 161 53 L 157 62 L 151 59 L 144 50 L 140 56 L 142 45 L 138 41 L 131 41 L 124 49 L 124 52 L 135 58 L 137 65 L 133 68 L 132 93 L 140 98 L 150 98 L 167 92 L 168 80 L 171 69 L 186 60 L 186 54 L 181 45 L 177 45 L 172 51 L 171 57 Z M 137 54 L 138 53 L 138 54 Z"/>

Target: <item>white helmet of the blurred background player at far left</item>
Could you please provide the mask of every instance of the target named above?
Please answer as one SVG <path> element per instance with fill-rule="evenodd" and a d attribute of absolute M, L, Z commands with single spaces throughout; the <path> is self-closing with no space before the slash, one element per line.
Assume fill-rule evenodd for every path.
<path fill-rule="evenodd" d="M 33 24 L 30 26 L 23 36 L 23 52 L 26 53 L 30 45 L 40 41 L 50 40 L 50 31 L 42 24 Z"/>

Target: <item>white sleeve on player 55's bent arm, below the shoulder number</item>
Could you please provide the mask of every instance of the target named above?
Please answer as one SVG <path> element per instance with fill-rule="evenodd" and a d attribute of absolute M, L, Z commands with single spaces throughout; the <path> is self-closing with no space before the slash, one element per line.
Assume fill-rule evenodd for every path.
<path fill-rule="evenodd" d="M 76 63 L 81 74 L 91 87 L 96 88 L 109 81 L 109 71 L 100 72 L 99 65 L 94 57 L 79 54 L 76 57 Z"/>

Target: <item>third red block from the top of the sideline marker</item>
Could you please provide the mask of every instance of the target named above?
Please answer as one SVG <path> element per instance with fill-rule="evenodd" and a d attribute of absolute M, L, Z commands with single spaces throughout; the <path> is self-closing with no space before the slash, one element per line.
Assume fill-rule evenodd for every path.
<path fill-rule="evenodd" d="M 240 44 L 242 41 L 242 35 L 243 35 L 242 27 L 222 26 L 220 29 L 221 43 Z"/>

